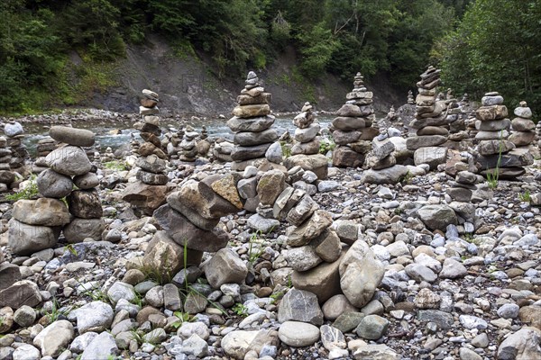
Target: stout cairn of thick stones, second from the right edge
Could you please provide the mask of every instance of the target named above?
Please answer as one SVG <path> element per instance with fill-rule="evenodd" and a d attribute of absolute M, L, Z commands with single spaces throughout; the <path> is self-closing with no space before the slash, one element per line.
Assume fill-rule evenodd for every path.
<path fill-rule="evenodd" d="M 527 148 L 516 148 L 508 139 L 511 121 L 507 118 L 508 109 L 503 104 L 503 97 L 497 92 L 485 94 L 475 115 L 475 127 L 479 130 L 475 135 L 479 140 L 477 161 L 481 165 L 481 174 L 509 180 L 523 175 L 526 172 L 523 166 L 533 164 L 534 157 Z"/>

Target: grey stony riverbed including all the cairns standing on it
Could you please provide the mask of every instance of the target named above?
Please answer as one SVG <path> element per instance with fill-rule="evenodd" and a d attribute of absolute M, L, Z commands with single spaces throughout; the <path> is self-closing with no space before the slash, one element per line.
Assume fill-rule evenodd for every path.
<path fill-rule="evenodd" d="M 420 77 L 280 130 L 250 72 L 217 134 L 144 89 L 115 150 L 2 119 L 0 360 L 541 359 L 535 116 Z"/>

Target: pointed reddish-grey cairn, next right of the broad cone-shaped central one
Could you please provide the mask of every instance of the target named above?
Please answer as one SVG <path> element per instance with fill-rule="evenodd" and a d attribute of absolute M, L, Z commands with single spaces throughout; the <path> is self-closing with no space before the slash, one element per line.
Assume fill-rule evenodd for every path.
<path fill-rule="evenodd" d="M 346 94 L 346 103 L 333 120 L 333 138 L 337 147 L 333 151 L 333 165 L 337 167 L 361 167 L 371 148 L 371 139 L 379 134 L 372 127 L 376 120 L 371 106 L 373 93 L 367 91 L 361 73 L 353 81 L 353 90 Z"/>

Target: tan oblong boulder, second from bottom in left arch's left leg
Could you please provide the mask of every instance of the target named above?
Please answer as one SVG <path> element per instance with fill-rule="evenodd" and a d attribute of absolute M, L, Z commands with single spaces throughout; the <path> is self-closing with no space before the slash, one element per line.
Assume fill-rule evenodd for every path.
<path fill-rule="evenodd" d="M 46 197 L 15 202 L 13 217 L 29 225 L 55 227 L 69 223 L 69 211 L 64 202 Z"/>

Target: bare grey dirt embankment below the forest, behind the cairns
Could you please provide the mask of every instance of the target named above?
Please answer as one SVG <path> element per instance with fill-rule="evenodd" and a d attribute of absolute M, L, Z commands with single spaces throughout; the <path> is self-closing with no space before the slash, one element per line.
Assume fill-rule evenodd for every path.
<path fill-rule="evenodd" d="M 316 109 L 335 111 L 352 88 L 351 82 L 324 74 L 315 82 L 307 82 L 297 75 L 294 49 L 287 49 L 266 69 L 257 71 L 267 91 L 272 94 L 274 112 L 295 112 L 306 101 Z M 160 110 L 164 114 L 194 114 L 227 117 L 235 105 L 235 98 L 243 88 L 243 78 L 219 79 L 210 61 L 190 55 L 176 56 L 173 49 L 157 36 L 149 36 L 142 46 L 127 49 L 126 58 L 118 61 L 115 69 L 118 86 L 105 94 L 95 94 L 83 105 L 115 112 L 137 112 L 138 98 L 143 88 L 160 94 Z M 389 85 L 385 76 L 367 81 L 374 92 L 374 107 L 387 112 L 390 104 L 405 103 Z"/>

